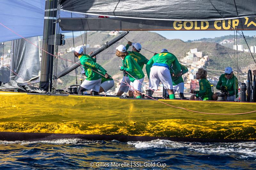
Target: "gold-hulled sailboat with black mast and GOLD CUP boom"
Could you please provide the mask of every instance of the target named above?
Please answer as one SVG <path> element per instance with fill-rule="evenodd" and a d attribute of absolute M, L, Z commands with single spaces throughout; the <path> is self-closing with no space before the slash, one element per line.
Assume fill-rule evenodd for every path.
<path fill-rule="evenodd" d="M 53 75 L 54 70 L 54 65 L 51 63 L 54 63 L 55 53 L 50 51 L 56 50 L 56 47 L 47 41 L 49 36 L 55 35 L 55 32 L 53 29 L 47 30 L 46 25 L 55 26 L 52 22 L 55 17 L 58 18 L 62 30 L 125 31 L 177 28 L 196 30 L 198 27 L 206 28 L 206 26 L 209 29 L 216 26 L 220 29 L 232 29 L 232 24 L 236 26 L 236 30 L 242 30 L 242 26 L 238 23 L 242 22 L 247 26 L 256 16 L 256 4 L 253 1 L 248 1 L 248 4 L 236 2 L 237 10 L 234 10 L 236 9 L 234 3 L 217 0 L 182 3 L 178 0 L 164 2 L 154 0 L 142 1 L 136 6 L 130 3 L 130 1 L 115 1 L 106 4 L 104 1 L 82 0 L 73 3 L 73 1 L 61 0 L 60 4 L 57 4 L 57 1 L 56 4 L 50 4 L 50 1 L 45 1 L 45 10 L 48 11 L 61 8 L 65 11 L 120 18 L 58 18 L 57 13 L 45 12 L 42 68 L 47 69 L 41 70 L 40 81 L 41 88 L 46 91 L 50 89 L 50 92 L 36 94 L 0 91 L 0 140 L 33 141 L 80 137 L 88 140 L 119 141 L 152 139 L 197 142 L 256 141 L 256 103 L 249 102 L 251 98 L 247 100 L 248 102 L 191 101 L 129 99 L 51 92 L 53 80 L 50 75 Z M 180 10 L 181 6 L 187 6 L 183 8 L 185 11 Z M 225 11 L 221 10 L 223 6 L 226 6 Z M 124 7 L 125 10 L 130 10 L 129 13 L 123 12 Z M 157 11 L 152 12 L 150 9 Z M 170 15 L 166 15 L 167 13 Z M 231 26 L 225 25 L 225 22 Z M 225 27 L 221 26 L 221 23 L 224 23 Z M 256 26 L 251 24 L 246 29 L 256 30 Z M 56 78 L 57 73 L 55 75 L 52 77 Z M 250 72 L 248 75 L 251 83 Z M 247 93 L 249 87 L 251 90 L 252 86 L 247 84 Z M 246 101 L 248 94 L 241 100 Z"/>

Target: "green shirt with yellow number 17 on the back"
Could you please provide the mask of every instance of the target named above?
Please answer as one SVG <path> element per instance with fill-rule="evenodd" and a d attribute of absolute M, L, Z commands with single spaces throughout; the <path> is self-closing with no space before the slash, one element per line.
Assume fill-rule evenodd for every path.
<path fill-rule="evenodd" d="M 149 75 L 150 75 L 150 68 L 152 67 L 152 65 L 154 63 L 166 64 L 169 66 L 169 69 L 170 69 L 171 65 L 173 64 L 174 74 L 178 74 L 181 70 L 180 63 L 175 55 L 173 55 L 172 53 L 169 53 L 169 52 L 159 53 L 159 54 L 154 55 L 148 61 L 147 65 L 146 65 L 148 79 L 149 79 Z"/>

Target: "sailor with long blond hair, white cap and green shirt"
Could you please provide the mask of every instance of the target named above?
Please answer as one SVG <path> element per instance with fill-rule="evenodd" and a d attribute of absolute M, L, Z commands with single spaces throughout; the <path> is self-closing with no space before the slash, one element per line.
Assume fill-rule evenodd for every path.
<path fill-rule="evenodd" d="M 121 71 L 125 71 L 131 81 L 130 88 L 134 92 L 136 98 L 141 98 L 141 85 L 144 80 L 144 73 L 139 64 L 128 55 L 124 45 L 119 45 L 116 48 L 116 56 L 122 59 L 123 66 L 120 66 Z"/>

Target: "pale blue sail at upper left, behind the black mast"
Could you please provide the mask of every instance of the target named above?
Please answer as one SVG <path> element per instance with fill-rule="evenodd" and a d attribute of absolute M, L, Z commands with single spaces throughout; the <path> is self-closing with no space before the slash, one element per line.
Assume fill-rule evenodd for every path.
<path fill-rule="evenodd" d="M 24 38 L 43 35 L 45 0 L 0 0 L 0 23 Z M 71 18 L 71 13 L 60 12 L 60 17 Z M 84 18 L 84 14 L 72 13 L 73 18 Z M 0 42 L 21 37 L 0 25 Z M 62 31 L 67 33 L 70 31 Z"/>

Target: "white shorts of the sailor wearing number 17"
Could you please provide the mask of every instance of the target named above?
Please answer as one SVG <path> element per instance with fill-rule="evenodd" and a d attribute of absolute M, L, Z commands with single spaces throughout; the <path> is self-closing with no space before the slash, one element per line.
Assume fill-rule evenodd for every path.
<path fill-rule="evenodd" d="M 166 67 L 154 65 L 150 69 L 149 88 L 157 90 L 160 82 L 162 82 L 165 89 L 172 90 L 172 78 L 170 70 Z"/>

